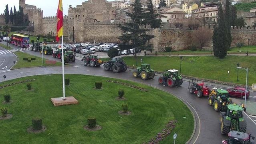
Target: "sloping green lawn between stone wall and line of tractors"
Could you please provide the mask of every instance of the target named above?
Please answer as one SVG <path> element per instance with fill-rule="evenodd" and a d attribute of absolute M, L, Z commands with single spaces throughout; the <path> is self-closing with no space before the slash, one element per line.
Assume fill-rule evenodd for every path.
<path fill-rule="evenodd" d="M 143 63 L 151 64 L 151 68 L 157 71 L 180 68 L 179 56 L 143 56 L 138 57 L 138 65 Z M 101 58 L 103 61 L 109 58 Z M 129 66 L 136 66 L 134 57 L 124 57 Z M 246 82 L 246 70 L 239 70 L 239 81 L 237 82 L 237 63 L 243 68 L 248 67 L 248 84 L 256 82 L 256 57 L 255 56 L 226 56 L 223 59 L 215 56 L 183 56 L 181 63 L 181 74 L 198 78 L 220 80 L 244 84 Z M 230 73 L 228 74 L 228 71 Z"/>

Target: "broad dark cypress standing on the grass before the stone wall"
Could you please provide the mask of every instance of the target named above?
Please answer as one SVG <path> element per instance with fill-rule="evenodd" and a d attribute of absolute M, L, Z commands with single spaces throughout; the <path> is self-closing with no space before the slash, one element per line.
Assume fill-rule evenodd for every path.
<path fill-rule="evenodd" d="M 228 40 L 222 7 L 218 8 L 218 25 L 214 28 L 213 35 L 214 56 L 224 58 L 227 55 Z"/>

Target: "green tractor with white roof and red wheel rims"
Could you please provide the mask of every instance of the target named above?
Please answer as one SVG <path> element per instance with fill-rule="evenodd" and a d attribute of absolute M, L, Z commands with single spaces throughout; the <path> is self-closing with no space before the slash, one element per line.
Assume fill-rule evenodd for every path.
<path fill-rule="evenodd" d="M 163 76 L 158 78 L 159 84 L 167 84 L 169 87 L 181 86 L 183 79 L 178 70 L 165 70 Z"/>

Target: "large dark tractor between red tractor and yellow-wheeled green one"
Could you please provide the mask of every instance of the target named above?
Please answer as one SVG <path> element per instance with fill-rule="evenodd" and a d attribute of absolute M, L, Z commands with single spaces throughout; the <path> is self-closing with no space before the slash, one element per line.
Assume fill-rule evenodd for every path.
<path fill-rule="evenodd" d="M 116 56 L 104 64 L 105 70 L 113 70 L 115 73 L 125 72 L 127 65 L 122 57 Z"/>

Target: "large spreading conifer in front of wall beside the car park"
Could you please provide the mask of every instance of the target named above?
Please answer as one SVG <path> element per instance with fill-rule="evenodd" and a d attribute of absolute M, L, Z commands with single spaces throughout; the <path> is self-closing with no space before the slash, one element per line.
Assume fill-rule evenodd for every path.
<path fill-rule="evenodd" d="M 134 56 L 137 56 L 137 49 L 143 49 L 145 47 L 146 42 L 154 38 L 154 36 L 146 34 L 147 29 L 143 28 L 143 16 L 145 13 L 141 8 L 140 0 L 135 0 L 133 4 L 132 12 L 126 12 L 127 16 L 131 18 L 124 25 L 119 25 L 123 34 L 119 36 L 119 40 L 121 40 L 120 48 L 124 49 L 128 47 L 133 47 L 135 49 Z"/>

